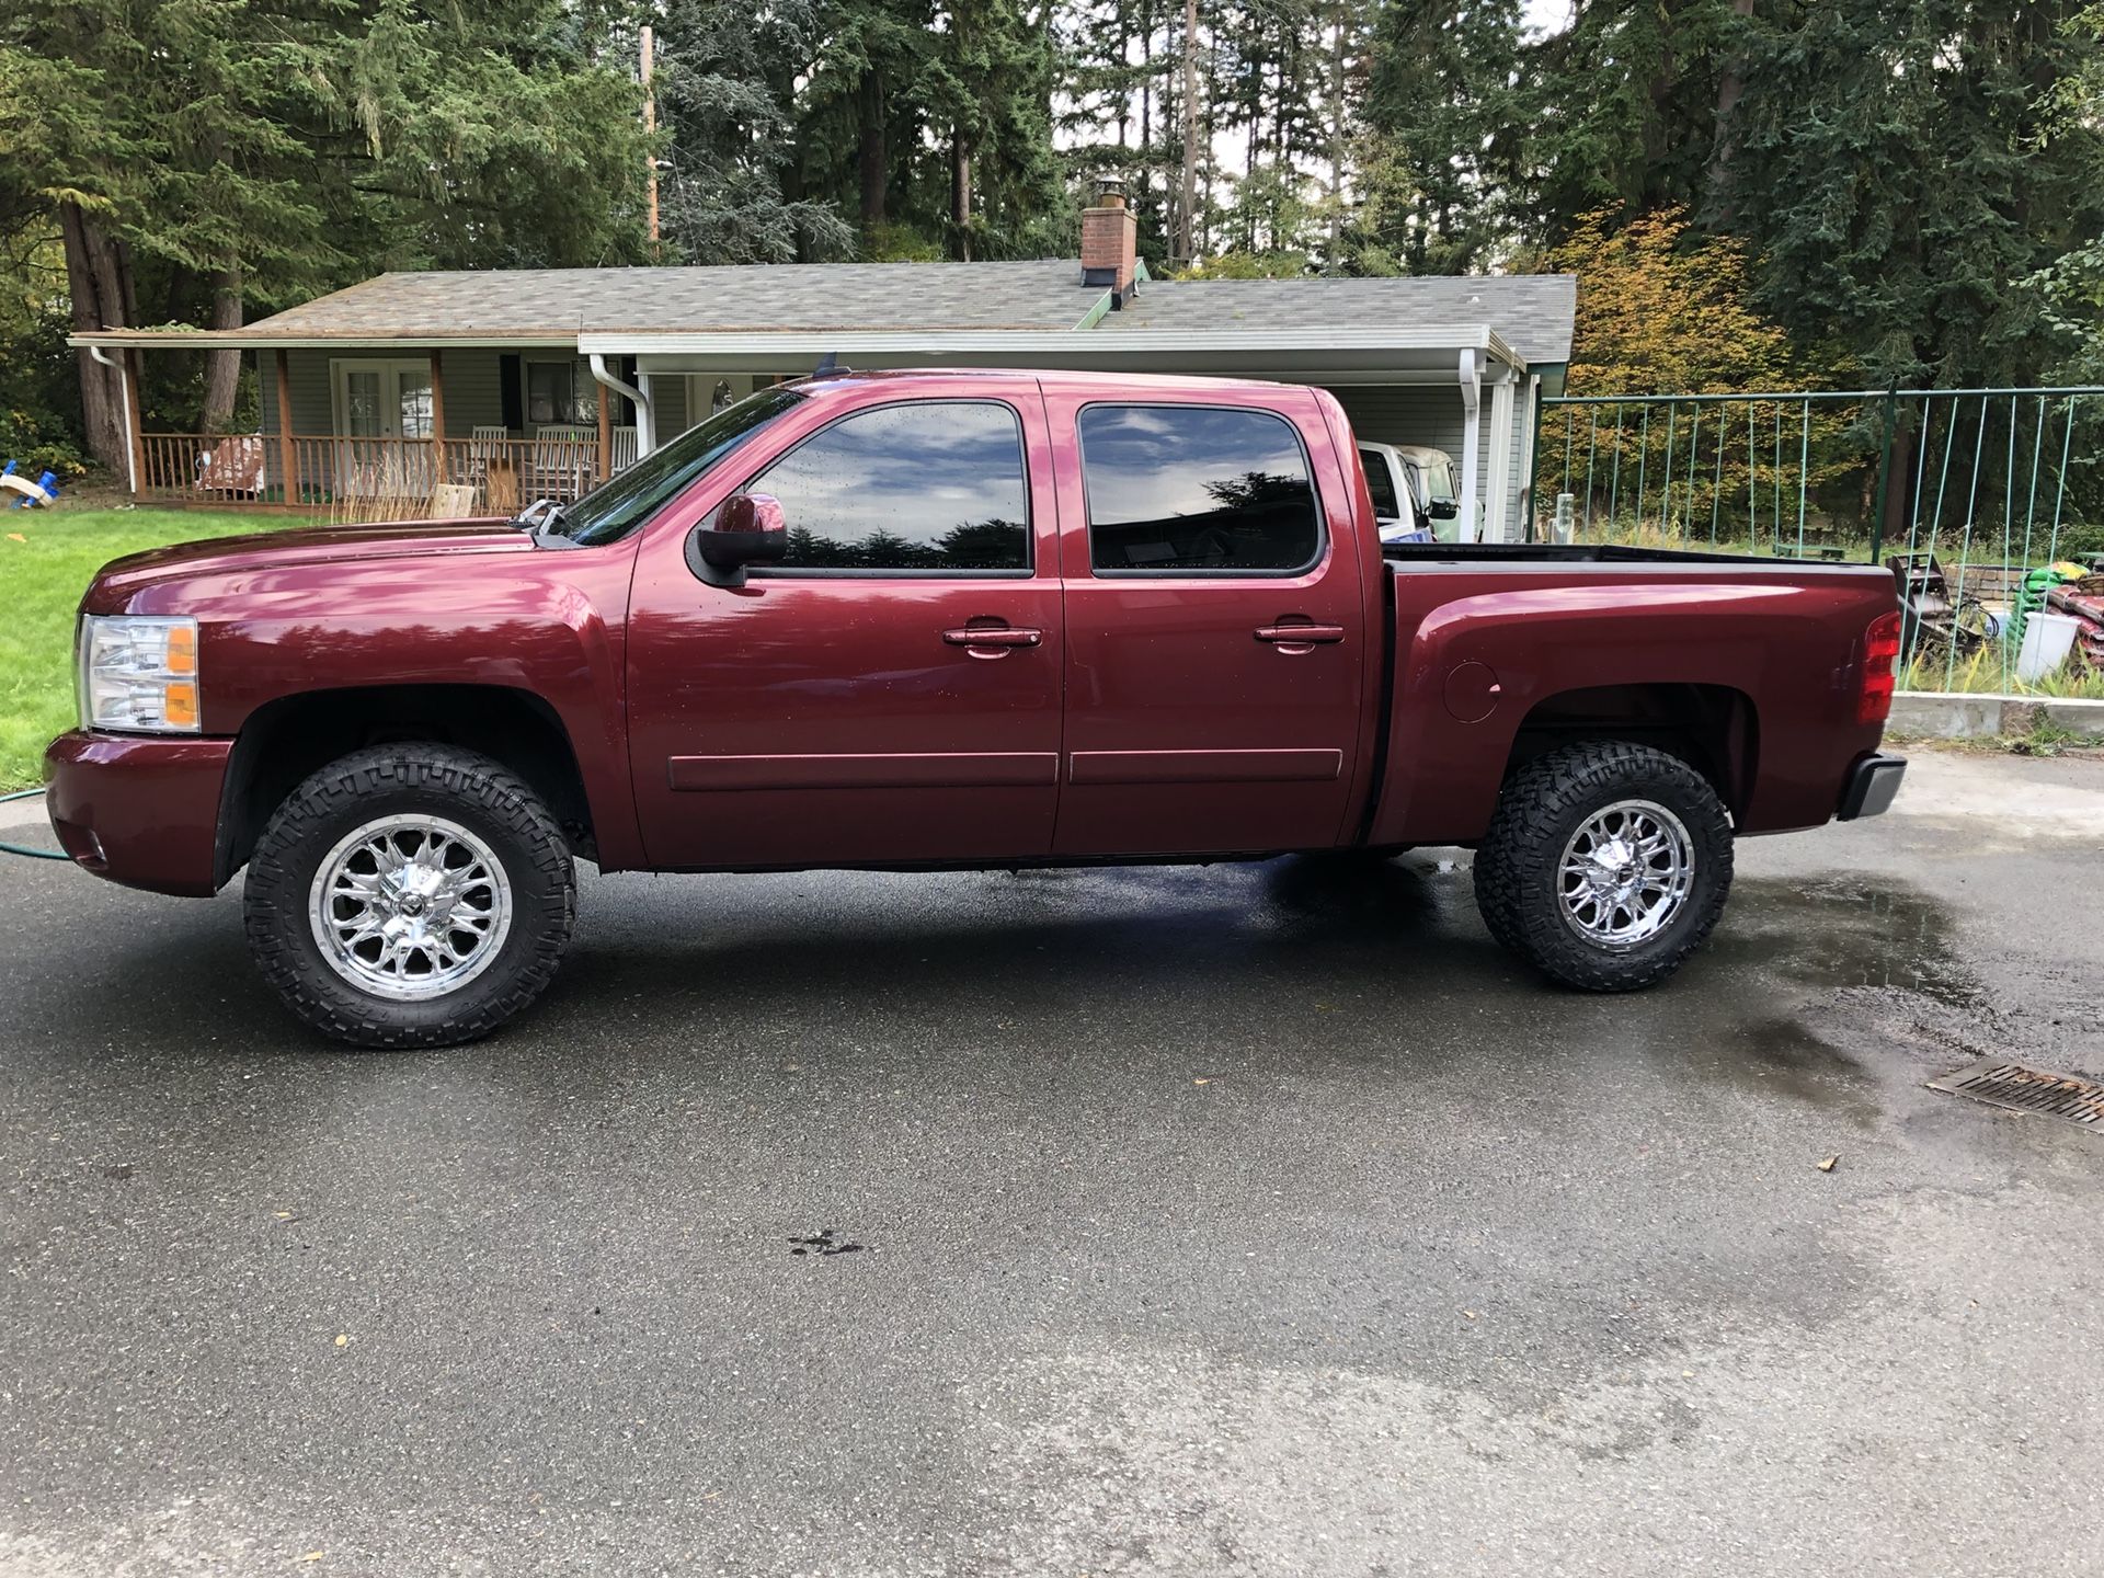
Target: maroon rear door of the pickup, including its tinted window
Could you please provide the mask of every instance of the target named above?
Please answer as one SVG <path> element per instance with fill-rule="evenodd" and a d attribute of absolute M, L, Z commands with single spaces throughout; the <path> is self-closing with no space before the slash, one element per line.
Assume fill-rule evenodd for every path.
<path fill-rule="evenodd" d="M 1046 404 L 1067 566 L 1054 850 L 1336 844 L 1378 631 L 1365 629 L 1347 482 L 1328 444 L 1304 440 L 1323 436 L 1315 398 L 1048 385 Z"/>

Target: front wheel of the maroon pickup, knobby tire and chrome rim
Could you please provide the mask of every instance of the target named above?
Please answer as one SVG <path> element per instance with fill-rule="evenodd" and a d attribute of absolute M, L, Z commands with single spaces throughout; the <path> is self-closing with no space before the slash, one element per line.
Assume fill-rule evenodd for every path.
<path fill-rule="evenodd" d="M 505 766 L 383 745 L 286 797 L 242 905 L 257 968 L 307 1025 L 353 1046 L 450 1046 L 547 991 L 576 875 L 555 818 Z"/>

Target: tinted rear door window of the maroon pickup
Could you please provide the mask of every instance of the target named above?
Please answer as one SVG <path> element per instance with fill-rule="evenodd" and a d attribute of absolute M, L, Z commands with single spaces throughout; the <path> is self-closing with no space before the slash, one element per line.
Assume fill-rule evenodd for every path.
<path fill-rule="evenodd" d="M 1302 570 L 1321 537 L 1300 438 L 1265 410 L 1090 406 L 1079 417 L 1098 570 Z"/>

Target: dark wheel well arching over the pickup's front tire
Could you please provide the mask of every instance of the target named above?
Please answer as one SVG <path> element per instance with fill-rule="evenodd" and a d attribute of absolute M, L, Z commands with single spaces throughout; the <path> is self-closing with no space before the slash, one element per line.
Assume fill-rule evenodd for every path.
<path fill-rule="evenodd" d="M 309 772 L 389 741 L 440 741 L 503 762 L 547 802 L 570 848 L 595 856 L 576 751 L 545 701 L 507 686 L 372 686 L 309 690 L 250 713 L 227 762 L 217 882 L 248 863 L 271 812 Z"/>

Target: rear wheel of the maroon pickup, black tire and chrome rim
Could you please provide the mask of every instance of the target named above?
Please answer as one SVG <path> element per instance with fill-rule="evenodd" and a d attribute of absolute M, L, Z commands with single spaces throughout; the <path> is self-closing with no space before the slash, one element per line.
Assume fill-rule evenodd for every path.
<path fill-rule="evenodd" d="M 1519 768 L 1475 858 L 1492 936 L 1582 991 L 1671 976 L 1729 890 L 1732 821 L 1708 778 L 1622 741 L 1567 745 Z"/>

